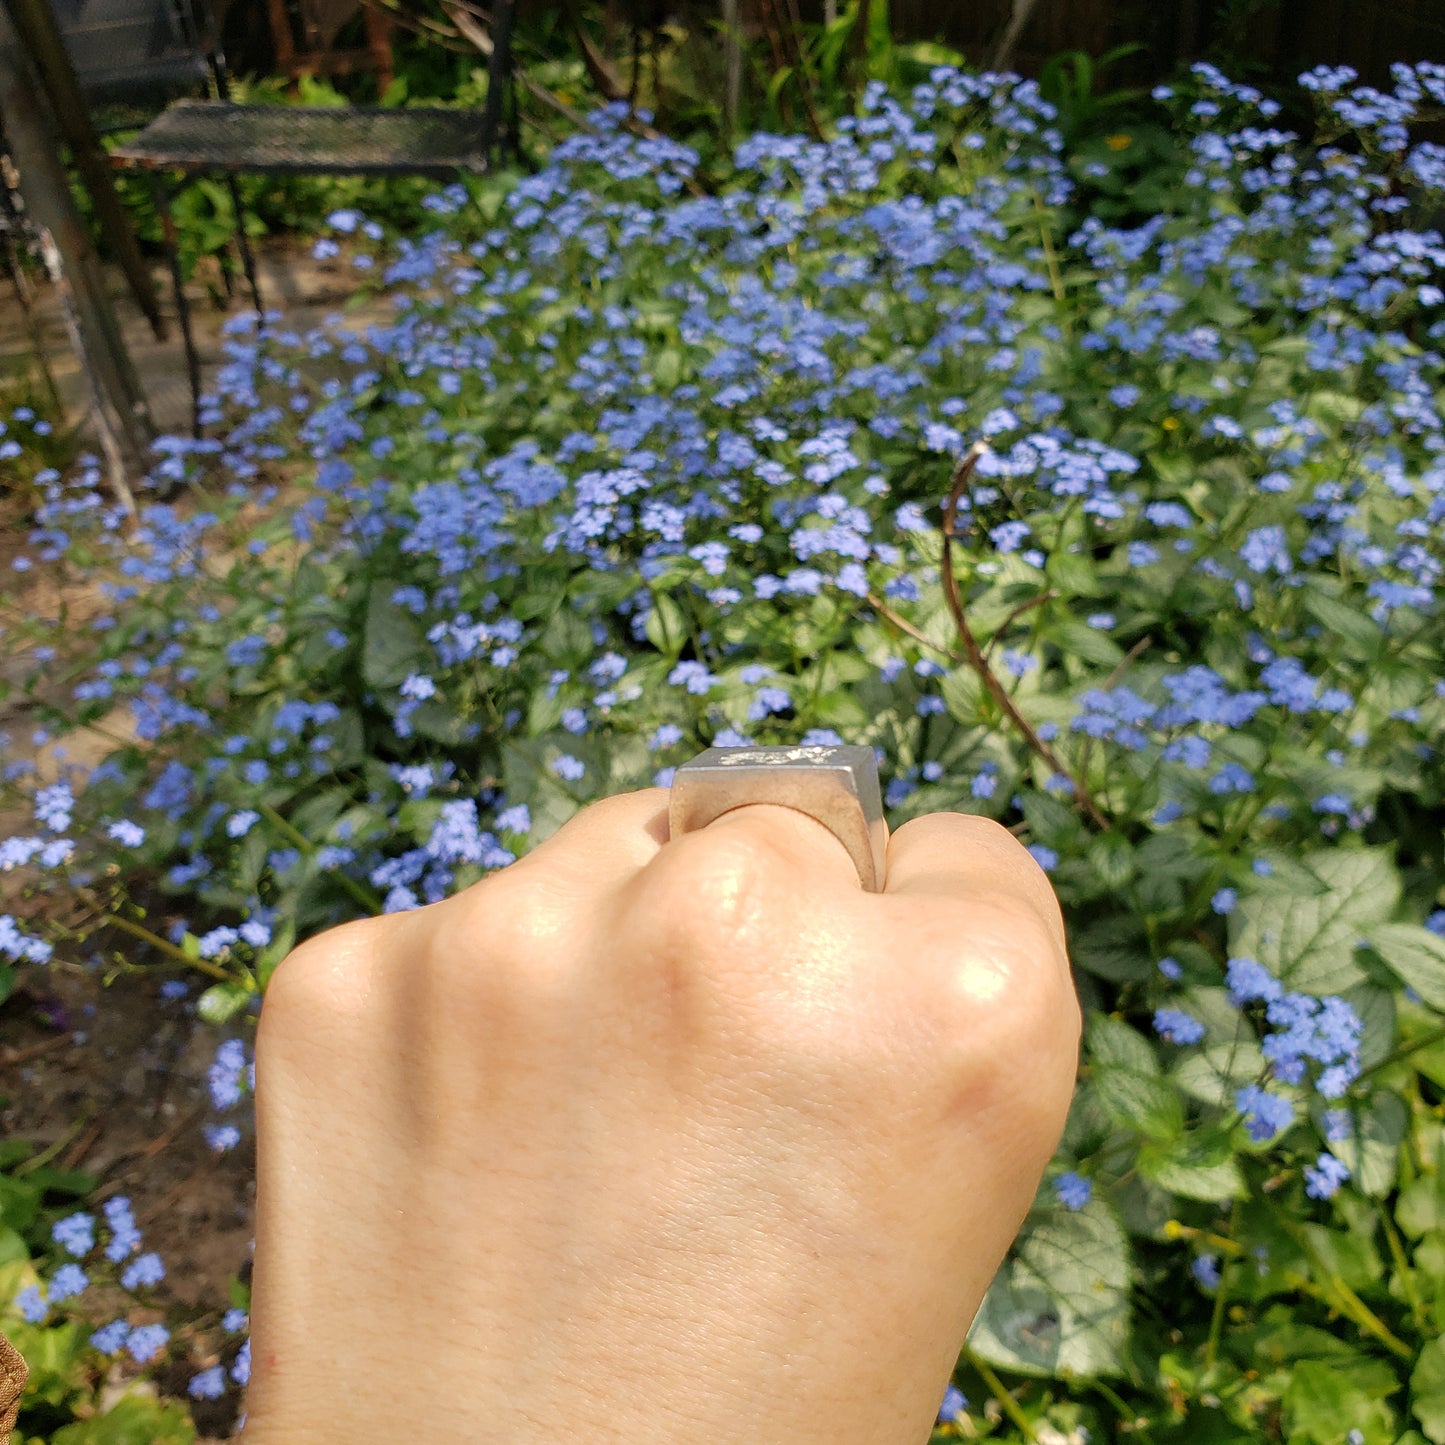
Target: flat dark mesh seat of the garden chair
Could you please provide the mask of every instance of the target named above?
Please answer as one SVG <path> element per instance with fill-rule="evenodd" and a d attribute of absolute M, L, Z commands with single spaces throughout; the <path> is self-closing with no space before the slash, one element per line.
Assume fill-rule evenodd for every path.
<path fill-rule="evenodd" d="M 111 152 L 118 166 L 312 175 L 486 171 L 475 110 L 178 101 Z"/>

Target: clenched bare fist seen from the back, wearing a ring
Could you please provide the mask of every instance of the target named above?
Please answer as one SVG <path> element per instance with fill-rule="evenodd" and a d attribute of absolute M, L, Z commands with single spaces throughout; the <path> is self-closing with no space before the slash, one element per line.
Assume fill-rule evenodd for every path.
<path fill-rule="evenodd" d="M 1058 1143 L 1053 893 L 935 814 L 598 802 L 276 971 L 246 1445 L 919 1445 Z"/>

